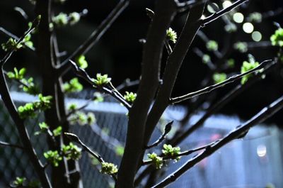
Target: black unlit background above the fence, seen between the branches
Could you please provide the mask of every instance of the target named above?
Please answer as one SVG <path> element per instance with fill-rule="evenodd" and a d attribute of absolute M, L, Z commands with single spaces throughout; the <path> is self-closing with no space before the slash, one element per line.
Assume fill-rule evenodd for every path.
<path fill-rule="evenodd" d="M 219 1 L 214 1 L 219 2 Z M 59 49 L 61 51 L 72 52 L 79 46 L 83 40 L 108 16 L 108 13 L 117 4 L 114 0 L 105 1 L 90 1 L 90 0 L 68 0 L 64 5 L 57 6 L 55 9 L 57 13 L 64 11 L 66 13 L 73 11 L 82 11 L 88 9 L 88 15 L 81 18 L 80 23 L 75 26 L 67 26 L 66 28 L 60 28 L 57 30 Z M 262 1 L 251 0 L 248 7 L 242 6 L 241 12 L 244 15 L 248 15 L 250 12 L 267 12 L 275 11 L 282 8 L 281 0 Z M 17 12 L 13 10 L 13 7 L 21 7 L 32 20 L 35 17 L 34 6 L 29 3 L 28 0 L 1 0 L 0 1 L 0 26 L 6 28 L 11 33 L 20 36 L 27 27 L 27 21 Z M 150 20 L 146 16 L 145 8 L 154 10 L 154 1 L 142 0 L 131 1 L 129 7 L 122 13 L 122 15 L 111 26 L 110 30 L 103 35 L 100 42 L 91 49 L 86 58 L 88 60 L 89 67 L 88 73 L 94 75 L 97 72 L 107 73 L 112 77 L 112 81 L 115 85 L 120 84 L 126 78 L 139 79 L 141 72 L 141 53 L 142 45 L 139 43 L 139 39 L 145 38 L 147 28 L 149 27 Z M 208 14 L 207 14 L 208 15 Z M 180 34 L 182 29 L 186 13 L 181 13 L 175 17 L 172 23 L 172 28 Z M 276 26 L 272 24 L 273 21 L 280 23 L 283 26 L 283 14 L 266 18 L 262 23 L 255 24 L 255 30 L 262 33 L 262 40 L 269 40 L 270 35 L 276 30 Z M 219 42 L 219 48 L 223 47 L 226 38 L 224 38 L 224 23 L 221 19 L 215 21 L 209 26 L 202 28 L 202 31 L 212 40 Z M 238 33 L 234 36 L 241 41 L 252 41 L 250 34 Z M 4 34 L 0 34 L 0 43 L 6 42 L 8 38 Z M 33 37 L 36 47 L 36 37 Z M 205 49 L 205 43 L 200 38 L 195 38 L 192 44 L 192 48 L 198 47 Z M 191 48 L 191 49 L 192 49 Z M 277 49 L 264 48 L 248 51 L 253 54 L 258 61 L 272 59 L 275 57 Z M 0 52 L 1 57 L 4 52 Z M 166 60 L 166 52 L 164 54 L 164 60 Z M 236 60 L 236 67 L 227 72 L 229 74 L 240 72 L 241 64 L 243 60 L 247 60 L 247 54 L 239 52 L 233 52 L 231 54 Z M 212 60 L 214 57 L 212 56 Z M 62 57 L 64 60 L 64 57 Z M 29 50 L 20 50 L 9 60 L 5 69 L 11 70 L 13 67 L 27 67 L 28 74 L 33 77 L 38 77 L 38 69 L 40 68 L 40 62 L 33 52 Z M 207 74 L 207 66 L 204 65 L 200 57 L 197 57 L 192 50 L 187 53 L 187 57 L 181 67 L 180 74 L 175 84 L 173 96 L 179 96 L 200 89 L 200 82 Z M 71 72 L 67 75 L 66 79 L 73 77 Z M 38 78 L 38 82 L 40 79 Z M 224 88 L 218 89 L 216 93 L 216 101 L 221 96 L 224 96 L 230 89 L 236 86 L 239 82 L 230 84 Z M 132 88 L 134 91 L 137 88 Z M 224 114 L 238 114 L 241 118 L 250 118 L 253 114 L 257 113 L 270 102 L 277 99 L 277 97 L 283 94 L 282 87 L 282 70 L 276 70 L 267 75 L 266 79 L 250 87 L 246 92 L 233 99 L 233 101 L 226 105 L 221 113 Z M 186 104 L 183 103 L 183 104 Z M 279 111 L 276 116 L 271 118 L 270 122 L 278 123 L 282 125 L 282 112 Z"/>

